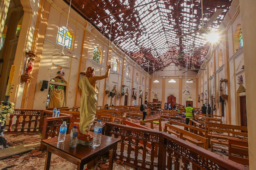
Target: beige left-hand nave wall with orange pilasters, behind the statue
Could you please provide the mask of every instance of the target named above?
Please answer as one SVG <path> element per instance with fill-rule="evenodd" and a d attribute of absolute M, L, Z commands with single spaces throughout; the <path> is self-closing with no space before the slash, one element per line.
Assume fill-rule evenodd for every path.
<path fill-rule="evenodd" d="M 108 82 L 108 89 L 112 90 L 114 85 L 116 88 L 116 96 L 114 99 L 114 105 L 123 105 L 124 104 L 124 96 L 121 96 L 122 85 L 125 85 L 128 88 L 128 105 L 132 104 L 132 88 L 137 89 L 137 103 L 140 104 L 139 91 L 143 90 L 143 101 L 145 100 L 145 91 L 147 89 L 147 72 L 144 70 L 140 70 L 138 64 L 134 63 L 131 59 L 129 60 L 129 68 L 130 68 L 130 78 L 126 77 L 126 66 L 128 61 L 128 56 L 124 54 L 120 49 L 118 49 L 114 44 L 110 43 L 109 48 L 109 40 L 103 36 L 98 30 L 96 30 L 91 24 L 89 24 L 82 16 L 76 13 L 74 10 L 70 10 L 70 17 L 68 22 L 68 29 L 73 34 L 73 41 L 71 45 L 71 49 L 64 48 L 64 53 L 69 55 L 74 55 L 76 58 L 70 58 L 68 56 L 52 56 L 56 52 L 54 49 L 61 50 L 62 46 L 56 43 L 56 37 L 58 32 L 58 27 L 66 26 L 67 21 L 67 13 L 68 13 L 68 5 L 59 0 L 48 1 L 42 0 L 42 6 L 44 6 L 44 11 L 40 11 L 39 6 L 36 8 L 32 1 L 28 1 L 30 3 L 28 5 L 33 5 L 33 8 L 29 9 L 29 16 L 25 16 L 26 20 L 31 20 L 32 22 L 28 30 L 30 37 L 27 37 L 28 46 L 26 49 L 31 50 L 31 44 L 33 44 L 33 34 L 34 29 L 37 26 L 38 33 L 34 36 L 37 36 L 39 41 L 37 41 L 35 51 L 38 54 L 38 58 L 36 58 L 34 69 L 32 72 L 32 76 L 34 79 L 29 84 L 29 90 L 27 93 L 27 98 L 25 101 L 25 108 L 33 108 L 33 109 L 44 109 L 46 106 L 47 94 L 49 89 L 45 89 L 43 92 L 40 91 L 42 80 L 50 80 L 56 76 L 58 76 L 57 72 L 59 71 L 58 65 L 61 64 L 65 75 L 63 79 L 67 81 L 65 84 L 66 88 L 66 105 L 68 107 L 79 106 L 80 97 L 77 95 L 78 93 L 78 81 L 81 77 L 79 77 L 79 72 L 84 71 L 87 67 L 94 67 L 96 75 L 105 74 L 107 64 L 113 63 L 114 60 L 118 60 L 118 70 L 117 72 L 111 69 L 111 73 L 109 78 L 106 79 Z M 25 2 L 24 2 L 25 4 Z M 27 9 L 27 8 L 26 8 Z M 49 13 L 47 12 L 49 11 Z M 37 18 L 37 13 L 42 12 L 42 18 Z M 26 12 L 25 12 L 26 13 Z M 47 15 L 44 15 L 47 13 Z M 58 18 L 58 19 L 56 19 Z M 35 25 L 36 22 L 39 22 L 38 25 Z M 44 22 L 43 22 L 44 21 Z M 33 25 L 34 24 L 34 25 Z M 26 25 L 26 24 L 24 24 Z M 22 23 L 23 27 L 23 23 Z M 24 34 L 24 30 L 23 34 Z M 27 35 L 27 34 L 26 34 Z M 23 38 L 23 37 L 22 37 Z M 41 40 L 40 40 L 41 38 Z M 39 43 L 41 41 L 41 43 Z M 18 44 L 19 45 L 19 44 Z M 97 63 L 92 60 L 93 49 L 98 47 L 101 51 L 100 62 Z M 108 56 L 109 50 L 109 56 Z M 125 57 L 125 58 L 124 58 Z M 16 59 L 16 56 L 15 56 Z M 24 61 L 26 62 L 26 56 L 23 57 L 22 64 Z M 17 62 L 15 62 L 17 63 Z M 18 64 L 18 63 L 17 63 Z M 17 65 L 16 64 L 16 65 Z M 25 69 L 21 67 L 20 72 L 16 71 L 17 76 L 20 76 L 25 72 Z M 135 81 L 135 74 L 138 73 L 138 82 Z M 15 74 L 15 75 L 16 75 Z M 142 77 L 144 77 L 144 85 L 142 84 Z M 18 78 L 17 78 L 18 80 Z M 131 81 L 131 82 L 127 82 Z M 105 93 L 106 90 L 106 81 L 101 80 L 97 82 L 97 88 L 99 90 L 97 106 L 104 106 L 105 104 L 110 104 L 110 98 L 108 94 Z M 17 83 L 17 82 L 16 82 Z M 12 100 L 16 101 L 16 108 L 21 107 L 22 103 L 22 95 L 24 83 L 17 83 L 17 93 L 16 95 L 12 95 Z M 137 88 L 137 86 L 141 85 Z"/>

